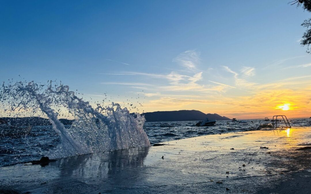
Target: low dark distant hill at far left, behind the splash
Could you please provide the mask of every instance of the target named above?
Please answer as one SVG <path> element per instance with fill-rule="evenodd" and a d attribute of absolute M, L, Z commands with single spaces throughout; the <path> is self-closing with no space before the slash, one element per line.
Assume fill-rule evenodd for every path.
<path fill-rule="evenodd" d="M 51 125 L 48 119 L 41 117 L 2 117 L 0 123 L 3 121 L 10 122 L 13 126 L 40 126 L 40 125 Z M 59 119 L 64 125 L 72 124 L 74 120 Z"/>

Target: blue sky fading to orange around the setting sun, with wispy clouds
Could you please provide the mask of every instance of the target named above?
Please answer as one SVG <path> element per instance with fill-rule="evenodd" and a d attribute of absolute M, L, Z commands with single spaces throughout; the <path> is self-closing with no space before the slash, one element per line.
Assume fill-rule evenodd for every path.
<path fill-rule="evenodd" d="M 0 81 L 62 81 L 140 113 L 310 117 L 310 15 L 284 0 L 2 1 Z"/>

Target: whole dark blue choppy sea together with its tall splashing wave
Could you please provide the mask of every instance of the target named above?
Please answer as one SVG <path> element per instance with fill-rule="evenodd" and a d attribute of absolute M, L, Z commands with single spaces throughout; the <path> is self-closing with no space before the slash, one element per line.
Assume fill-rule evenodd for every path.
<path fill-rule="evenodd" d="M 44 87 L 47 87 L 44 89 Z M 146 122 L 139 114 L 131 115 L 127 108 L 111 103 L 96 108 L 90 106 L 62 84 L 17 82 L 2 85 L 2 105 L 9 106 L 10 116 L 22 112 L 41 111 L 52 125 L 33 126 L 27 135 L 0 136 L 0 167 L 14 165 L 42 156 L 61 158 L 87 153 L 118 150 L 129 147 L 148 147 L 151 144 L 196 137 L 256 130 L 264 120 L 245 120 L 245 123 L 217 121 L 216 125 L 198 127 L 197 121 Z M 72 125 L 63 125 L 58 116 L 65 107 L 73 115 Z M 290 119 L 292 127 L 311 126 L 311 119 Z M 282 124 L 282 122 L 280 123 Z"/>

